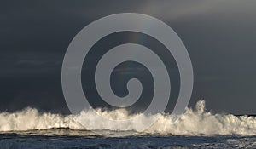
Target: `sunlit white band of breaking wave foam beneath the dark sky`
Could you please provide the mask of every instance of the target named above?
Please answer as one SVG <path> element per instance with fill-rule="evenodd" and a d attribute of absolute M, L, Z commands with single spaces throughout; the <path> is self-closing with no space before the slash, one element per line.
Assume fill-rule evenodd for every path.
<path fill-rule="evenodd" d="M 125 110 L 115 110 L 103 112 L 97 110 L 98 114 L 112 119 L 126 119 L 133 117 L 128 115 Z M 85 129 L 74 119 L 86 123 L 87 130 L 137 130 L 152 118 L 158 121 L 147 129 L 145 133 L 158 135 L 256 135 L 256 117 L 234 115 L 212 114 L 205 112 L 205 101 L 200 100 L 196 104 L 195 110 L 187 108 L 183 115 L 172 123 L 172 116 L 168 114 L 156 114 L 144 116 L 140 122 L 131 123 L 106 123 L 101 122 L 95 117 L 95 112 L 87 110 L 76 116 L 61 116 L 52 113 L 39 113 L 38 110 L 26 108 L 23 111 L 0 113 L 0 131 L 20 131 L 31 129 L 52 129 L 69 128 Z"/>

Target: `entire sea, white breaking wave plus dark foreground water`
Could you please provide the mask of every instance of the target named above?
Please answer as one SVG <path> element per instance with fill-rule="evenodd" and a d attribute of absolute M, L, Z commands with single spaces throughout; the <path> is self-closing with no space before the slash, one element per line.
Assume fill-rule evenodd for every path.
<path fill-rule="evenodd" d="M 124 110 L 97 112 L 109 118 L 132 117 Z M 256 148 L 256 117 L 212 114 L 205 111 L 203 100 L 195 109 L 186 109 L 176 123 L 166 113 L 143 117 L 143 123 L 158 119 L 143 132 L 137 132 L 142 122 L 104 123 L 94 113 L 63 116 L 33 108 L 2 112 L 0 148 Z M 75 119 L 86 123 L 86 128 Z"/>

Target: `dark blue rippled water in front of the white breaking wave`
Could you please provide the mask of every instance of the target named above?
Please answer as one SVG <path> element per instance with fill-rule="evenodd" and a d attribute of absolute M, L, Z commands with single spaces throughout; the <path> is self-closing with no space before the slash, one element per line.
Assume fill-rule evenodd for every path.
<path fill-rule="evenodd" d="M 107 131 L 107 130 L 105 130 Z M 109 133 L 115 133 L 109 131 Z M 105 137 L 90 131 L 46 129 L 0 135 L 2 149 L 256 148 L 256 135 L 132 135 Z"/>

